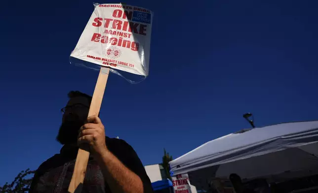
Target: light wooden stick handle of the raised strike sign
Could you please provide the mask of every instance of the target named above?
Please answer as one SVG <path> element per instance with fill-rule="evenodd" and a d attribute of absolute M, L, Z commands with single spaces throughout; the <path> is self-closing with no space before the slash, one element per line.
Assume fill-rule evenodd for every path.
<path fill-rule="evenodd" d="M 92 102 L 89 107 L 88 117 L 98 115 L 102 104 L 109 68 L 101 67 L 96 82 Z M 69 193 L 80 193 L 86 173 L 89 151 L 87 148 L 80 148 L 76 158 L 72 180 L 69 186 Z"/>

